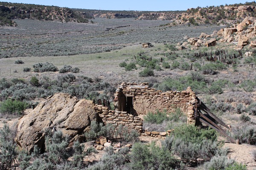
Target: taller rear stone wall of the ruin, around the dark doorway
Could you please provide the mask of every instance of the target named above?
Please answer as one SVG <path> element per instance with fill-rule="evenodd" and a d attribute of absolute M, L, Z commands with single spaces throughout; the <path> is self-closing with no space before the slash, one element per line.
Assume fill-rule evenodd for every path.
<path fill-rule="evenodd" d="M 116 111 L 121 111 L 119 102 L 121 95 L 134 96 L 133 108 L 137 115 L 145 115 L 148 112 L 156 113 L 157 110 L 173 112 L 176 108 L 180 108 L 181 111 L 186 113 L 192 94 L 195 93 L 191 88 L 187 88 L 186 91 L 162 92 L 154 88 L 148 88 L 148 83 L 139 85 L 136 83 L 122 83 L 116 90 L 114 105 Z"/>

